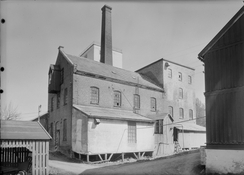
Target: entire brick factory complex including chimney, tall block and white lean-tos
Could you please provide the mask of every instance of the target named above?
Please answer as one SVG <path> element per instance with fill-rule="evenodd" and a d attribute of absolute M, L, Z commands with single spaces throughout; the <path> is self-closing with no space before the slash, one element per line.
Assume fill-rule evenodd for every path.
<path fill-rule="evenodd" d="M 50 65 L 51 147 L 87 161 L 124 153 L 172 154 L 174 141 L 182 148 L 199 147 L 204 130 L 193 120 L 194 69 L 164 59 L 137 72 L 114 67 L 111 8 L 102 11 L 100 62 L 87 51 L 73 56 L 59 47 L 56 63 Z M 189 119 L 188 124 L 172 124 Z"/>

